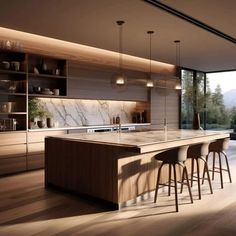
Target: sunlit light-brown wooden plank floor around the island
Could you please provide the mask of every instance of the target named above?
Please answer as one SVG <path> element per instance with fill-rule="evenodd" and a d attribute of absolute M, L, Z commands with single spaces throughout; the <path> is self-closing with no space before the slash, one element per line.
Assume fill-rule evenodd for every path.
<path fill-rule="evenodd" d="M 236 235 L 236 141 L 228 157 L 233 183 L 225 176 L 213 182 L 214 194 L 203 186 L 202 200 L 190 204 L 187 189 L 180 212 L 173 197 L 161 192 L 157 204 L 145 200 L 120 211 L 78 196 L 44 189 L 43 170 L 0 179 L 0 235 Z"/>

